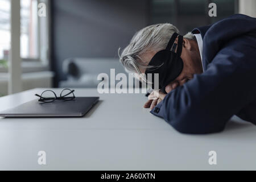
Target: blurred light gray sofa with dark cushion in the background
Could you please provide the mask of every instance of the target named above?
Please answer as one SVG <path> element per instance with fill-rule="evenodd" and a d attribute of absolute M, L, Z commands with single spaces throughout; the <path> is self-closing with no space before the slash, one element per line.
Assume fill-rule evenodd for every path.
<path fill-rule="evenodd" d="M 67 80 L 59 82 L 60 88 L 97 88 L 101 80 L 100 73 L 106 73 L 110 80 L 110 69 L 115 69 L 115 75 L 125 73 L 118 59 L 111 58 L 70 58 L 63 61 L 63 73 Z M 115 81 L 115 84 L 118 81 Z M 113 85 L 110 85 L 113 86 Z"/>

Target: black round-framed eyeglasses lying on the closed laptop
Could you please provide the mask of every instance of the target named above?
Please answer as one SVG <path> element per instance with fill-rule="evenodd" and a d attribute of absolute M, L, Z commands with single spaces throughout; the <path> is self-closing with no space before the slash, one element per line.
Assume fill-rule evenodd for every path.
<path fill-rule="evenodd" d="M 61 91 L 60 97 L 57 97 L 56 93 L 52 90 L 45 90 L 41 95 L 35 94 L 35 96 L 40 97 L 39 102 L 53 102 L 55 100 L 71 101 L 76 98 L 73 92 L 75 92 L 75 90 L 64 89 Z"/>

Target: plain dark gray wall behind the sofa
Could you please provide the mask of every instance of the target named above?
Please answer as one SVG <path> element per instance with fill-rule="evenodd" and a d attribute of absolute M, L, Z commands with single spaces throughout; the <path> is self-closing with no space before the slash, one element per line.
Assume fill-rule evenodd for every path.
<path fill-rule="evenodd" d="M 55 86 L 69 57 L 118 57 L 136 31 L 149 23 L 148 0 L 52 0 L 51 61 Z"/>

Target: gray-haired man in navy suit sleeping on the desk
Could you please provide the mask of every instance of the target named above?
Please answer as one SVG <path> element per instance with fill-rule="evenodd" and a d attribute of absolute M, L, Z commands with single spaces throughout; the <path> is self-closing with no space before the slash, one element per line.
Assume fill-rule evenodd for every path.
<path fill-rule="evenodd" d="M 147 72 L 175 32 L 168 23 L 143 28 L 123 50 L 121 63 L 128 71 Z M 236 14 L 195 28 L 184 35 L 180 58 L 182 70 L 164 86 L 167 94 L 162 90 L 155 99 L 153 92 L 144 105 L 152 114 L 189 134 L 222 131 L 234 114 L 256 124 L 256 18 Z"/>

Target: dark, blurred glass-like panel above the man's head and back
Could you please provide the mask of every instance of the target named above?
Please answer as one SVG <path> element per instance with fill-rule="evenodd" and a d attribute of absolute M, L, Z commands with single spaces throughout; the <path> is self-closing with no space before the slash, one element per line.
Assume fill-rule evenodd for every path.
<path fill-rule="evenodd" d="M 208 15 L 208 5 L 217 5 L 217 17 Z M 238 12 L 237 0 L 151 0 L 150 23 L 172 23 L 185 34 L 195 27 L 217 22 Z"/>

